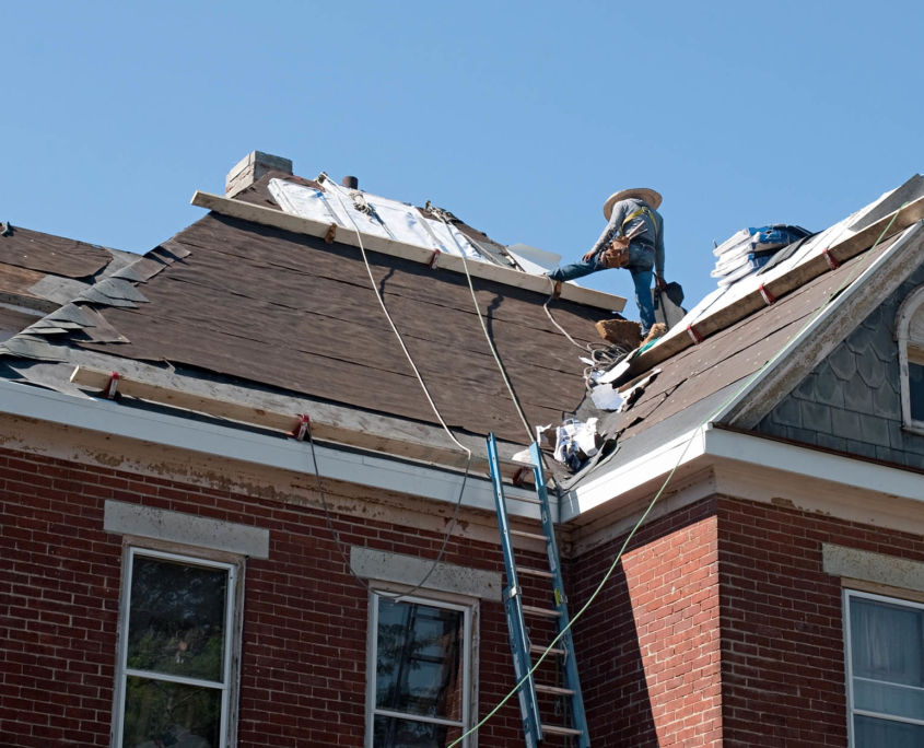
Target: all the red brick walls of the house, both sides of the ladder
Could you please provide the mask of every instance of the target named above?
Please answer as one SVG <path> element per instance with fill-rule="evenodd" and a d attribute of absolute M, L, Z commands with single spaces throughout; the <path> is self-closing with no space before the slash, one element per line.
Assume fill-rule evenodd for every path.
<path fill-rule="evenodd" d="M 247 566 L 239 745 L 362 745 L 366 595 L 320 513 L 8 451 L 0 745 L 108 745 L 121 538 L 102 529 L 106 499 L 269 528 L 270 559 Z M 432 558 L 441 539 L 337 523 L 347 544 L 399 553 Z M 826 541 L 924 561 L 921 537 L 721 496 L 643 528 L 575 627 L 594 745 L 845 746 L 841 589 L 822 571 Z M 569 563 L 572 610 L 620 542 Z M 496 547 L 472 541 L 446 560 L 501 569 Z M 482 604 L 480 634 L 483 714 L 513 685 L 500 604 Z M 511 704 L 480 745 L 522 740 Z"/>

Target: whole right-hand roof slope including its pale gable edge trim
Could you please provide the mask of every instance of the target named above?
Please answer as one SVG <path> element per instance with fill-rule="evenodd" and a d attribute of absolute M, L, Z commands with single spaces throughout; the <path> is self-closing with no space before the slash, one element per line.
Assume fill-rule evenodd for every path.
<path fill-rule="evenodd" d="M 919 191 L 924 187 L 920 177 L 911 182 Z M 881 288 L 897 288 L 921 265 L 924 257 L 924 231 L 917 219 L 921 198 L 920 194 L 909 197 L 912 202 L 907 209 L 908 214 L 900 212 L 896 217 L 902 218 L 901 222 L 891 221 L 894 212 L 882 211 L 876 217 L 878 222 L 857 220 L 856 214 L 847 219 L 849 223 L 862 225 L 851 237 L 854 255 L 835 269 L 826 265 L 820 274 L 808 274 L 808 280 L 796 284 L 773 303 L 762 300 L 753 312 L 735 309 L 734 304 L 729 304 L 726 322 L 730 323 L 720 326 L 699 343 L 694 343 L 683 323 L 680 323 L 670 336 L 639 357 L 642 359 L 648 354 L 648 361 L 634 370 L 630 366 L 628 376 L 634 376 L 631 379 L 624 376 L 621 389 L 627 390 L 645 375 L 655 374 L 654 379 L 628 410 L 603 417 L 600 429 L 617 440 L 619 448 L 605 466 L 596 470 L 596 477 L 618 470 L 710 420 L 736 425 L 746 422 L 748 426 L 753 426 L 774 402 L 798 385 L 799 376 L 808 371 L 807 362 L 818 359 L 819 351 L 830 350 L 861 324 L 873 303 L 874 292 L 881 293 Z M 902 204 L 893 206 L 893 210 Z M 861 215 L 868 215 L 868 212 L 869 208 L 861 211 Z M 914 242 L 903 254 L 893 252 L 899 248 L 900 242 L 911 238 Z M 791 273 L 806 273 L 806 266 L 814 257 L 817 255 L 807 253 L 802 262 L 790 267 Z M 872 269 L 877 270 L 877 277 L 870 274 Z M 747 280 L 755 288 L 761 283 L 755 277 Z M 861 292 L 861 288 L 865 291 Z M 835 292 L 839 296 L 829 305 L 832 308 L 827 315 L 820 314 Z M 742 301 L 746 293 L 747 289 L 745 293 L 737 293 L 739 307 L 747 303 Z M 841 303 L 847 296 L 850 299 Z M 695 319 L 694 312 L 688 317 Z M 677 350 L 678 341 L 683 344 L 679 351 L 671 353 Z M 662 347 L 668 352 L 658 355 Z M 796 350 L 804 362 L 781 363 L 783 359 L 793 359 Z M 784 353 L 790 355 L 784 357 Z M 785 376 L 781 373 L 777 381 L 771 381 L 773 374 L 765 367 L 769 362 L 773 362 Z M 765 375 L 765 381 L 757 381 L 759 372 Z M 581 412 L 586 412 L 586 409 L 585 404 Z M 744 413 L 749 411 L 757 416 L 745 417 Z M 585 478 L 581 476 L 576 483 Z"/>

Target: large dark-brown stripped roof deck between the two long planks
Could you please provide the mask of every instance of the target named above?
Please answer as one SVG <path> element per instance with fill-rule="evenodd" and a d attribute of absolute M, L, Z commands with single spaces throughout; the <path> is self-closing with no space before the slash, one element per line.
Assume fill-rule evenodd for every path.
<path fill-rule="evenodd" d="M 141 287 L 149 303 L 103 309 L 131 343 L 79 344 L 435 421 L 358 249 L 214 214 L 174 241 L 191 254 Z M 524 442 L 465 278 L 383 255 L 370 261 L 447 422 Z M 583 397 L 581 351 L 548 320 L 542 294 L 473 281 L 530 422 L 557 422 Z M 557 302 L 554 313 L 575 337 L 597 339 L 599 311 Z"/>

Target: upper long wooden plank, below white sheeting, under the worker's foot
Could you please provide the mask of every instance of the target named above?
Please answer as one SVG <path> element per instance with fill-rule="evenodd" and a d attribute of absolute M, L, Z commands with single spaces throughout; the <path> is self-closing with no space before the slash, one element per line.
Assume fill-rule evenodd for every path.
<path fill-rule="evenodd" d="M 313 221 L 271 208 L 264 208 L 250 202 L 244 202 L 243 200 L 233 200 L 199 190 L 192 196 L 191 202 L 194 206 L 207 208 L 223 215 L 231 215 L 244 221 L 252 221 L 266 226 L 274 226 L 297 234 L 308 234 L 309 236 L 320 238 L 324 238 L 330 229 L 329 223 Z M 353 247 L 359 246 L 356 233 L 352 229 L 338 227 L 337 242 Z M 363 246 L 370 252 L 377 252 L 383 255 L 390 255 L 391 257 L 401 257 L 422 265 L 429 265 L 433 258 L 433 253 L 430 249 L 381 236 L 363 234 Z M 455 255 L 442 255 L 440 257 L 440 268 L 452 272 L 465 273 L 463 259 Z M 549 281 L 540 276 L 530 276 L 529 273 L 503 268 L 499 265 L 477 261 L 468 262 L 468 271 L 473 278 L 483 278 L 537 293 L 549 293 Z M 608 312 L 621 312 L 625 306 L 625 300 L 621 296 L 615 296 L 569 283 L 562 285 L 561 297 L 578 304 L 596 306 Z"/>

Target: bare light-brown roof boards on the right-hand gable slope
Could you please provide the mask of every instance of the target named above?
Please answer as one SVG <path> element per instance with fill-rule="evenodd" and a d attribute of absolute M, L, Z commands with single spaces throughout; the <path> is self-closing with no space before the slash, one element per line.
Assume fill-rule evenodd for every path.
<path fill-rule="evenodd" d="M 819 276 L 775 304 L 663 362 L 658 365 L 660 374 L 635 405 L 624 413 L 607 417 L 603 426 L 610 433 L 621 432 L 623 440 L 632 439 L 751 376 L 798 334 L 851 273 L 855 279 L 896 239 L 882 242 L 873 253 L 857 255 L 838 270 Z"/>

